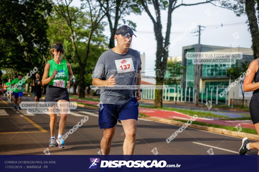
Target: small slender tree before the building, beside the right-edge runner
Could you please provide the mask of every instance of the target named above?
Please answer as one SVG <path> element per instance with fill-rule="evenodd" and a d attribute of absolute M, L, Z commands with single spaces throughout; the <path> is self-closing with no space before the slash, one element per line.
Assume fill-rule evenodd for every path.
<path fill-rule="evenodd" d="M 227 70 L 228 77 L 230 77 L 232 80 L 235 80 L 235 79 L 239 80 L 239 85 L 243 95 L 242 108 L 244 107 L 244 101 L 245 101 L 245 92 L 243 90 L 243 83 L 244 83 L 245 77 L 243 76 L 243 73 L 246 72 L 248 67 L 249 67 L 249 62 L 245 60 L 245 62 L 241 64 L 241 67 L 231 67 L 231 68 L 228 68 Z M 240 76 L 242 76 L 243 79 L 239 79 Z"/>

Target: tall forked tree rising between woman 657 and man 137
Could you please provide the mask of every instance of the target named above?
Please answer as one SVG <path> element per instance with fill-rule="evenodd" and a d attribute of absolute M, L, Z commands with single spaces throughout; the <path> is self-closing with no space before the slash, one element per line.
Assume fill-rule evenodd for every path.
<path fill-rule="evenodd" d="M 79 33 L 79 35 L 82 35 L 84 40 L 86 40 L 86 44 L 83 45 L 85 47 L 85 55 L 79 56 L 77 45 L 75 41 L 72 41 L 73 43 L 73 49 L 74 49 L 74 55 L 77 59 L 77 62 L 79 63 L 80 71 L 79 71 L 79 98 L 83 98 L 85 95 L 85 68 L 87 66 L 87 60 L 89 57 L 89 53 L 92 53 L 90 51 L 90 44 L 92 43 L 91 40 L 95 35 L 99 35 L 97 33 L 97 30 L 100 28 L 103 28 L 102 25 L 104 23 L 101 23 L 102 19 L 104 18 L 104 14 L 101 14 L 101 9 L 98 8 L 97 3 L 94 1 L 87 0 L 85 4 L 81 6 L 81 8 L 69 8 L 69 5 L 72 3 L 72 0 L 64 0 L 64 2 L 61 2 L 59 4 L 54 4 L 54 9 L 57 12 L 57 14 L 61 17 L 63 17 L 68 25 L 69 32 L 71 34 L 71 37 L 74 35 L 75 28 L 80 28 L 84 30 L 88 30 L 87 34 L 83 34 L 82 32 Z M 87 10 L 86 13 L 82 12 L 82 9 L 85 8 Z M 78 23 L 77 19 L 84 18 L 84 24 Z M 88 28 L 88 29 L 86 29 Z M 87 36 L 85 36 L 87 35 Z M 76 35 L 74 35 L 76 37 Z M 78 37 L 78 36 L 77 36 Z M 80 44 L 80 42 L 79 42 Z M 74 84 L 77 84 L 76 81 Z"/>

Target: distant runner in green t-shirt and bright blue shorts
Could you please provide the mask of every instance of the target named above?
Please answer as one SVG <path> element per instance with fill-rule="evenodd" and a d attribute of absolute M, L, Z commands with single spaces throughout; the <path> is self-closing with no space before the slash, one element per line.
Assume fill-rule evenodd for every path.
<path fill-rule="evenodd" d="M 21 80 L 21 75 L 18 75 L 18 78 L 14 79 L 11 81 L 12 86 L 15 84 L 18 84 L 17 88 L 14 90 L 14 108 L 19 109 L 20 108 L 20 103 L 21 103 L 21 97 L 23 94 L 23 87 L 24 87 L 24 82 L 19 82 Z M 22 84 L 21 84 L 22 83 Z M 18 105 L 17 105 L 17 98 L 18 98 Z"/>

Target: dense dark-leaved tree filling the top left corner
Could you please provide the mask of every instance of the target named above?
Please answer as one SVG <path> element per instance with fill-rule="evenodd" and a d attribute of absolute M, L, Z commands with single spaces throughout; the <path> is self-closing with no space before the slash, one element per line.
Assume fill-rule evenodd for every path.
<path fill-rule="evenodd" d="M 3 0 L 0 6 L 0 67 L 27 74 L 34 67 L 44 69 L 49 41 L 47 20 L 49 1 Z M 10 12 L 11 11 L 11 12 Z M 8 70 L 8 69 L 6 69 Z M 13 78 L 12 78 L 13 79 Z M 30 85 L 31 78 L 27 81 Z"/>

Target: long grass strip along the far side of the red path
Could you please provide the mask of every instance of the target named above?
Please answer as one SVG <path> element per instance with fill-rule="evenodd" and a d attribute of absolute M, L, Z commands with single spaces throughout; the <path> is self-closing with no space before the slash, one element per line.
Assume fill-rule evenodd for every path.
<path fill-rule="evenodd" d="M 140 107 L 143 108 L 154 108 L 154 106 L 149 106 L 149 105 L 140 105 Z M 186 115 L 198 115 L 198 117 L 214 117 L 214 118 L 223 118 L 224 117 L 222 115 L 217 115 L 217 114 L 213 114 L 210 112 L 198 112 L 198 111 L 194 111 L 194 110 L 185 110 L 185 109 L 176 109 L 176 108 L 157 108 L 155 107 L 154 109 L 161 109 L 161 110 L 170 110 L 170 111 L 176 111 L 176 112 L 180 112 L 180 113 L 184 113 Z"/>

